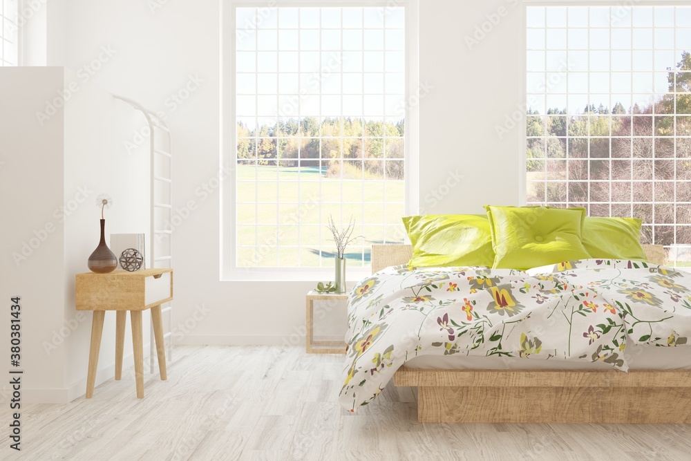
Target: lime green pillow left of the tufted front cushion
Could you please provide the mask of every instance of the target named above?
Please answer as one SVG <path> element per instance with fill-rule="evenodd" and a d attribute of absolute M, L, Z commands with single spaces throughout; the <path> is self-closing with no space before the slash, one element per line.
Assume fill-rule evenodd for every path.
<path fill-rule="evenodd" d="M 411 267 L 491 267 L 494 262 L 492 234 L 484 215 L 407 216 L 403 224 L 413 243 Z"/>

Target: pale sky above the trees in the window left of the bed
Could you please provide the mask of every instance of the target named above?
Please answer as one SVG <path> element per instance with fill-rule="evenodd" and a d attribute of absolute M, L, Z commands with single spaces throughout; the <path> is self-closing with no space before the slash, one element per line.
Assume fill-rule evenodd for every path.
<path fill-rule="evenodd" d="M 236 11 L 238 122 L 404 118 L 404 8 Z"/>

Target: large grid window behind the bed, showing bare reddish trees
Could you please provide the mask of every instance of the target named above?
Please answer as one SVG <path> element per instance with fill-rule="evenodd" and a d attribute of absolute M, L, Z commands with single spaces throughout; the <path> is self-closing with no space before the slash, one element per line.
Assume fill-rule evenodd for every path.
<path fill-rule="evenodd" d="M 527 202 L 691 261 L 691 7 L 527 8 Z"/>

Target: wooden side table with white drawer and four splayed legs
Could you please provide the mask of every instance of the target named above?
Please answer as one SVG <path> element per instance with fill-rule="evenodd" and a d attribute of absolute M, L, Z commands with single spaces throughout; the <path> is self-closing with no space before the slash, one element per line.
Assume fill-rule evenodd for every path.
<path fill-rule="evenodd" d="M 98 353 L 101 348 L 103 319 L 106 310 L 115 310 L 115 379 L 122 378 L 122 352 L 127 311 L 132 321 L 132 346 L 137 381 L 137 397 L 144 398 L 144 341 L 142 311 L 151 309 L 153 335 L 156 341 L 161 379 L 166 373 L 166 352 L 161 319 L 161 304 L 173 299 L 173 270 L 144 269 L 135 272 L 115 271 L 108 274 L 77 274 L 77 310 L 93 310 L 91 348 L 88 355 L 86 398 L 93 397 Z"/>

